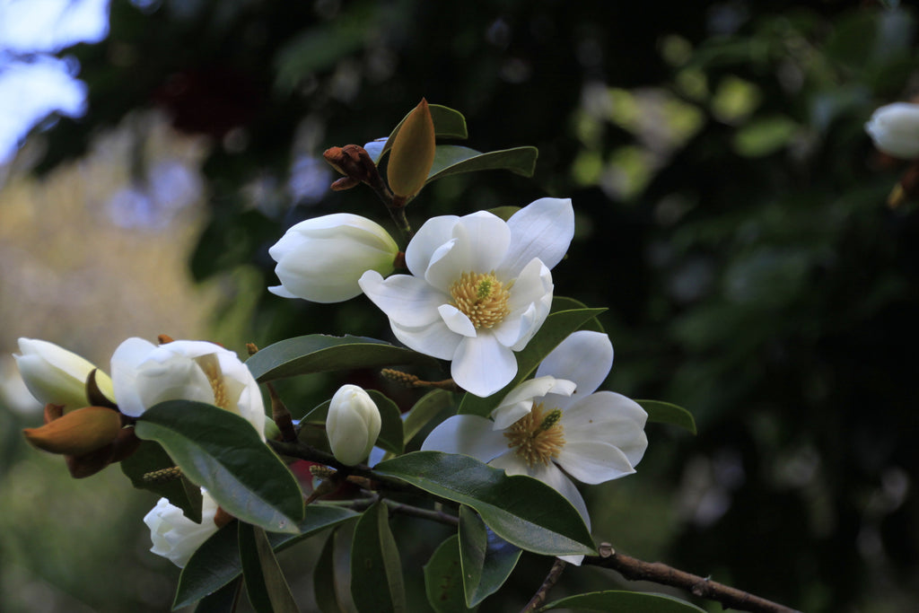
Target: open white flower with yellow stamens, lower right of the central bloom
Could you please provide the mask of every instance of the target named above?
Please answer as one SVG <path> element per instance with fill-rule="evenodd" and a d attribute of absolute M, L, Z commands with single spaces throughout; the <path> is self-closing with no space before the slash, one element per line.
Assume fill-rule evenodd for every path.
<path fill-rule="evenodd" d="M 595 392 L 612 364 L 607 335 L 575 332 L 542 361 L 536 379 L 508 393 L 494 422 L 454 415 L 434 428 L 422 449 L 462 453 L 507 474 L 535 477 L 571 501 L 590 528 L 584 498 L 569 477 L 590 484 L 624 477 L 648 447 L 644 409 L 621 394 Z M 521 404 L 524 416 L 508 424 Z M 580 563 L 581 557 L 565 560 Z"/>

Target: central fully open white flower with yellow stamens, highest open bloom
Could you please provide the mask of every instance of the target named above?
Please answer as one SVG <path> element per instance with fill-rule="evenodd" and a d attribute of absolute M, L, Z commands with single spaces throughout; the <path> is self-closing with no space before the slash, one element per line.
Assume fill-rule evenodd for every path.
<path fill-rule="evenodd" d="M 546 320 L 550 268 L 574 234 L 570 199 L 544 198 L 506 223 L 479 211 L 425 222 L 405 250 L 412 275 L 369 271 L 360 288 L 406 346 L 452 360 L 451 375 L 478 396 L 516 375 L 520 351 Z"/>

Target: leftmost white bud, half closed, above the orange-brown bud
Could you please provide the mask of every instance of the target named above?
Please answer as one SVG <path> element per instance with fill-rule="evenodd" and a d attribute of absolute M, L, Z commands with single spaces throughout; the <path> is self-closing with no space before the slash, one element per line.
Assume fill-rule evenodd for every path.
<path fill-rule="evenodd" d="M 96 369 L 92 362 L 48 341 L 20 338 L 19 351 L 13 354 L 19 374 L 28 391 L 42 404 L 62 404 L 68 409 L 87 406 L 86 379 Z M 111 380 L 101 370 L 96 370 L 99 390 L 114 399 Z"/>

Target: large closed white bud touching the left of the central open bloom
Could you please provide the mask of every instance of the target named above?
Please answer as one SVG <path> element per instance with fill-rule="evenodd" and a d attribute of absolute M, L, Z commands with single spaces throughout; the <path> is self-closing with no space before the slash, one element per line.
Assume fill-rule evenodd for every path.
<path fill-rule="evenodd" d="M 268 291 L 282 298 L 341 302 L 360 293 L 357 279 L 368 270 L 388 275 L 399 246 L 379 223 L 350 213 L 301 221 L 268 249 L 278 262 L 281 285 Z"/>

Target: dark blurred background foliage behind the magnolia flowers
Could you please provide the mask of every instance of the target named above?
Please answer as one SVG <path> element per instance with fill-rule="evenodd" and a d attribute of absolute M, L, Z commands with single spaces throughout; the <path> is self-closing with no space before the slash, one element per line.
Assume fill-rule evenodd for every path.
<path fill-rule="evenodd" d="M 905 610 L 919 597 L 919 216 L 886 207 L 904 165 L 862 126 L 917 93 L 919 55 L 913 10 L 886 4 L 114 0 L 108 40 L 62 51 L 89 114 L 40 135 L 38 171 L 138 108 L 210 136 L 191 267 L 224 279 L 217 329 L 234 337 L 219 340 L 267 345 L 390 337 L 363 298 L 265 290 L 267 247 L 294 222 L 385 218 L 366 189 L 292 188 L 335 178 L 304 178 L 303 160 L 386 136 L 423 96 L 459 109 L 478 150 L 539 147 L 534 179 L 449 177 L 409 217 L 573 198 L 556 293 L 609 308 L 614 389 L 686 406 L 699 429 L 649 426 L 638 474 L 587 492 L 596 535 L 801 610 Z M 291 409 L 337 382 L 289 385 Z M 545 572 L 529 562 L 521 591 L 482 610 L 526 601 Z"/>

